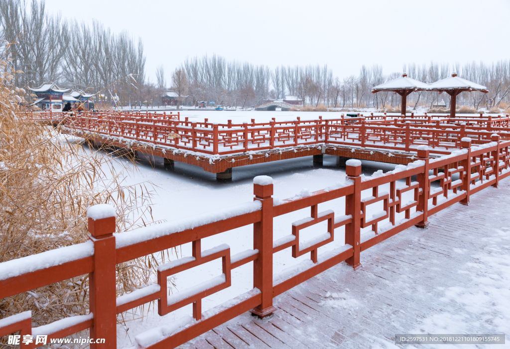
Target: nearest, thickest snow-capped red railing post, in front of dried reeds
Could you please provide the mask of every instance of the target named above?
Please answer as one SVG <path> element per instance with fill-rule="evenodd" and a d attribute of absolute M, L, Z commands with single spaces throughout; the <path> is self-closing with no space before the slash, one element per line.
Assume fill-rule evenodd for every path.
<path fill-rule="evenodd" d="M 89 239 L 94 243 L 93 267 L 89 274 L 89 307 L 94 314 L 90 338 L 105 338 L 104 348 L 117 347 L 115 209 L 107 204 L 87 210 Z M 91 349 L 97 344 L 90 344 Z"/>

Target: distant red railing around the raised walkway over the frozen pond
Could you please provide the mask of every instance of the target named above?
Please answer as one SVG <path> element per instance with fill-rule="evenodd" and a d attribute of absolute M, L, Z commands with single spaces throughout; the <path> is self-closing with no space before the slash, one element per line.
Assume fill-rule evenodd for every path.
<path fill-rule="evenodd" d="M 427 117 L 428 118 L 428 117 Z M 403 119 L 406 120 L 406 119 Z M 427 119 L 428 120 L 428 119 Z M 445 119 L 446 120 L 446 119 Z M 444 121 L 444 120 L 443 120 Z M 169 150 L 183 149 L 199 154 L 229 155 L 249 151 L 263 151 L 288 147 L 310 147 L 317 144 L 345 145 L 416 151 L 428 145 L 435 154 L 449 154 L 459 148 L 462 138 L 473 143 L 489 143 L 492 133 L 506 137 L 510 128 L 494 126 L 491 117 L 476 125 L 466 126 L 457 122 L 422 124 L 402 119 L 369 121 L 364 117 L 331 120 L 298 120 L 269 123 L 226 124 L 169 120 L 152 117 L 72 117 L 65 120 L 65 127 L 79 135 L 139 142 Z M 501 120 L 499 120 L 501 121 Z M 445 122 L 451 122 L 446 120 Z M 469 128 L 467 128 L 469 127 Z M 490 133 L 488 133 L 490 132 Z M 179 137 L 174 137 L 179 135 Z"/>

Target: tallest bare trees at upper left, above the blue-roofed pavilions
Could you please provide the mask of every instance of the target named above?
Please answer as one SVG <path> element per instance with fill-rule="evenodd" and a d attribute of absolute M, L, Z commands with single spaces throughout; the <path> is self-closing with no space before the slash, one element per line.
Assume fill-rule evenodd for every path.
<path fill-rule="evenodd" d="M 117 94 L 124 100 L 140 99 L 144 91 L 118 82 L 131 74 L 134 86 L 144 86 L 141 40 L 115 34 L 97 21 L 90 27 L 48 14 L 44 0 L 0 1 L 0 38 L 12 67 L 23 72 L 16 75 L 18 87 L 55 82 L 85 91 L 104 89 L 105 98 Z"/>

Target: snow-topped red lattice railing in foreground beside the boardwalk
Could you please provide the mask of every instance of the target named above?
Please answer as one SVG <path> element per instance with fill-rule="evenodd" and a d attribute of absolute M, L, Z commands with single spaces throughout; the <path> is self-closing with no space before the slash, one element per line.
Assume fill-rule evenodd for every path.
<path fill-rule="evenodd" d="M 359 160 L 350 160 L 345 183 L 276 204 L 272 198 L 271 178 L 256 177 L 252 202 L 118 234 L 112 234 L 115 217 L 89 218 L 90 241 L 87 243 L 0 263 L 0 298 L 88 273 L 90 314 L 72 317 L 73 321 L 59 320 L 61 322 L 54 327 L 58 330 L 51 330 L 44 326 L 32 328 L 30 314 L 22 313 L 14 315 L 17 318 L 4 319 L 8 325 L 0 322 L 0 336 L 20 331 L 22 335 L 44 334 L 57 338 L 90 328 L 91 338 L 106 339 L 100 346 L 115 348 L 116 314 L 150 301 L 158 301 L 160 315 L 193 304 L 192 316 L 135 337 L 141 347 L 173 348 L 246 311 L 267 316 L 275 311 L 273 298 L 286 290 L 342 261 L 356 268 L 360 265 L 361 252 L 412 225 L 426 227 L 431 214 L 456 202 L 469 204 L 471 195 L 490 185 L 497 186 L 499 180 L 510 174 L 509 146 L 510 141 L 502 142 L 496 135 L 492 136 L 491 143 L 478 147 L 471 147 L 469 140 L 464 139 L 461 150 L 435 159 L 429 158 L 426 147 L 420 147 L 416 162 L 371 177 L 361 176 Z M 416 182 L 412 181 L 413 176 L 417 176 Z M 380 186 L 388 184 L 389 192 L 381 193 Z M 404 203 L 406 192 L 411 192 L 414 199 Z M 333 207 L 331 200 L 335 199 L 345 201 L 345 212 L 338 215 L 333 210 L 318 212 L 319 204 Z M 368 217 L 369 205 L 382 206 L 382 210 Z M 291 235 L 273 240 L 275 217 L 307 208 L 310 208 L 310 217 L 289 225 L 292 226 Z M 322 221 L 328 222 L 324 234 L 312 241 L 300 239 L 301 229 Z M 236 255 L 231 255 L 230 247 L 225 244 L 201 250 L 202 238 L 251 224 L 252 249 Z M 345 229 L 345 245 L 319 254 L 318 248 L 334 241 L 335 230 L 341 227 Z M 361 229 L 367 227 L 371 230 L 361 234 Z M 116 264 L 187 243 L 192 243 L 192 256 L 160 265 L 157 284 L 116 298 Z M 273 254 L 289 248 L 293 257 L 310 253 L 310 259 L 273 276 Z M 220 258 L 222 274 L 219 277 L 168 296 L 168 276 Z M 231 271 L 251 261 L 253 289 L 202 312 L 202 298 L 230 287 Z M 36 346 L 39 345 L 30 343 L 26 347 Z"/>

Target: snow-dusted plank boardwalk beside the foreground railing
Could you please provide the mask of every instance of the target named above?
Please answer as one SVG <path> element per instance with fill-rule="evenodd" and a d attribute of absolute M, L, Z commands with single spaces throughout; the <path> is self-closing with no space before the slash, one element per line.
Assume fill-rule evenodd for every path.
<path fill-rule="evenodd" d="M 510 180 L 471 203 L 363 252 L 356 271 L 341 263 L 285 292 L 269 319 L 246 313 L 181 347 L 410 347 L 395 344 L 397 333 L 506 333 L 508 343 Z"/>

